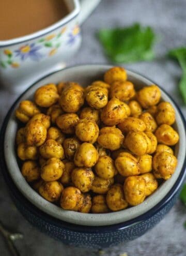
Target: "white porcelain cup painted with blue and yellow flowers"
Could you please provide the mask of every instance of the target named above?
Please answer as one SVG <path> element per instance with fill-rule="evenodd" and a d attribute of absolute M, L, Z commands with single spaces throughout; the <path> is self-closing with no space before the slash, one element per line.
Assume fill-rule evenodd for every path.
<path fill-rule="evenodd" d="M 19 93 L 60 69 L 81 44 L 80 26 L 100 0 L 65 0 L 69 13 L 36 33 L 0 41 L 0 84 Z"/>

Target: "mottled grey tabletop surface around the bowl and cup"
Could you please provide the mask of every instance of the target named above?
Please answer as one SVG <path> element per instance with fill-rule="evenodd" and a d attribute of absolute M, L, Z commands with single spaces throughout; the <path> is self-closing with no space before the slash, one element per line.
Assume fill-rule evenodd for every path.
<path fill-rule="evenodd" d="M 125 67 L 136 70 L 162 85 L 173 96 L 186 116 L 186 108 L 182 104 L 177 89 L 181 74 L 180 68 L 176 63 L 164 57 L 168 49 L 186 45 L 185 13 L 185 0 L 103 0 L 83 24 L 82 47 L 67 65 L 108 63 L 95 38 L 95 32 L 101 27 L 127 26 L 133 22 L 150 25 L 161 36 L 161 41 L 156 46 L 157 59 L 150 63 L 135 63 L 125 65 Z M 11 95 L 0 89 L 0 124 L 16 97 L 16 95 Z M 1 177 L 0 220 L 8 227 L 24 234 L 24 239 L 16 243 L 21 256 L 99 255 L 97 250 L 64 246 L 33 228 L 11 202 Z M 132 242 L 111 249 L 104 249 L 102 255 L 119 256 L 126 252 L 128 256 L 185 256 L 186 230 L 183 228 L 185 220 L 186 208 L 178 201 L 166 217 L 151 231 Z M 1 236 L 0 255 L 9 255 Z"/>

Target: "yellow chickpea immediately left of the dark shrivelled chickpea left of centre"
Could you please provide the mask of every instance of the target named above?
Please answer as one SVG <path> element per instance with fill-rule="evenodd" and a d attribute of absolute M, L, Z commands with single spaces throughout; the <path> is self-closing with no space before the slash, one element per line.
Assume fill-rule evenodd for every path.
<path fill-rule="evenodd" d="M 64 159 L 64 149 L 57 141 L 46 140 L 42 146 L 39 148 L 39 152 L 43 158 L 49 159 L 52 157 L 57 157 Z"/>

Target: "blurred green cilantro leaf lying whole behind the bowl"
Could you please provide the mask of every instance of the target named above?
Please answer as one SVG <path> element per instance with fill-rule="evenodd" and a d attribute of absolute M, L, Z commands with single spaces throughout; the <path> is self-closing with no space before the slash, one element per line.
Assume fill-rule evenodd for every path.
<path fill-rule="evenodd" d="M 154 58 L 152 46 L 156 36 L 151 27 L 136 23 L 130 27 L 101 29 L 98 37 L 112 61 L 130 63 Z"/>

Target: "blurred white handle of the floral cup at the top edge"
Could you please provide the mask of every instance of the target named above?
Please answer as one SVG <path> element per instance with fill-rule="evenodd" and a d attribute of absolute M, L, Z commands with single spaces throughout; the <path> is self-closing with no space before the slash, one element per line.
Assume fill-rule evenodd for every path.
<path fill-rule="evenodd" d="M 96 8 L 101 0 L 80 0 L 80 14 L 79 23 L 80 25 L 86 20 L 90 13 Z"/>

